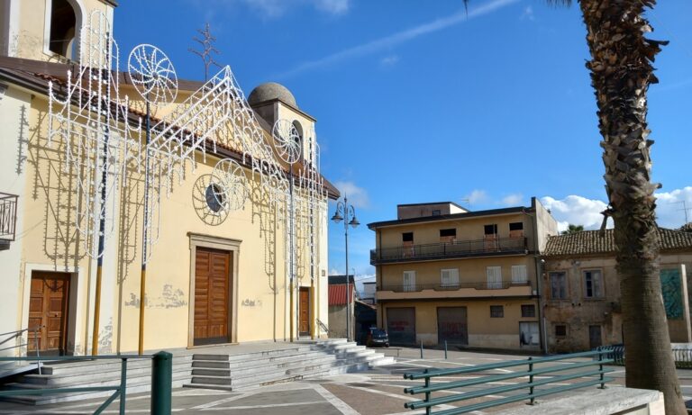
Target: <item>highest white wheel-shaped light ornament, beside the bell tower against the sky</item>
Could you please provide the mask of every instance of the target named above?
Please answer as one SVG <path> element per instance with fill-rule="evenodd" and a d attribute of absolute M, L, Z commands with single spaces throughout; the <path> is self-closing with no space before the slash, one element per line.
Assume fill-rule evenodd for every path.
<path fill-rule="evenodd" d="M 170 104 L 178 95 L 176 69 L 168 56 L 156 46 L 142 44 L 130 52 L 128 71 L 132 84 L 147 103 Z"/>

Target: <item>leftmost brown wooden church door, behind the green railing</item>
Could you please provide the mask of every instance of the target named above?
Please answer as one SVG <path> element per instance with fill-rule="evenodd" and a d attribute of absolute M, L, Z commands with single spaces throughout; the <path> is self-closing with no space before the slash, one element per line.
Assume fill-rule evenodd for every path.
<path fill-rule="evenodd" d="M 29 299 L 31 354 L 64 355 L 68 338 L 69 274 L 34 272 Z M 33 331 L 34 328 L 39 328 Z"/>

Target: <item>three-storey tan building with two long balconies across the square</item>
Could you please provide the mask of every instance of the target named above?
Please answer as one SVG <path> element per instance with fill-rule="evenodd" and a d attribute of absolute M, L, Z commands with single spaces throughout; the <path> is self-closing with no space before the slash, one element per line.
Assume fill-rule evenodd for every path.
<path fill-rule="evenodd" d="M 557 223 L 535 198 L 528 207 L 479 212 L 398 205 L 395 221 L 369 229 L 378 326 L 392 344 L 542 348 L 538 253 Z"/>

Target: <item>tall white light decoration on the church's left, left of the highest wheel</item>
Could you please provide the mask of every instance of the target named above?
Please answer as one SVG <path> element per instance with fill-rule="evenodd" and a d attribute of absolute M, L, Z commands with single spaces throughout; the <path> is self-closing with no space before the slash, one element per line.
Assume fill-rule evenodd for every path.
<path fill-rule="evenodd" d="M 75 225 L 91 257 L 103 256 L 114 230 L 115 197 L 125 165 L 137 158 L 140 126 L 127 122 L 128 99 L 120 99 L 118 47 L 105 14 L 95 12 L 81 30 L 77 73 L 65 86 L 49 85 L 49 144 L 64 146 L 75 181 Z M 99 243 L 99 238 L 101 243 Z"/>

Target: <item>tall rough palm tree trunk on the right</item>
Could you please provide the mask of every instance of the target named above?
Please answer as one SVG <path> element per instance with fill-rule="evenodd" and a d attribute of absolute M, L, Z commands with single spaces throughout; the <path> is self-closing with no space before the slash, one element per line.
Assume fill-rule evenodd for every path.
<path fill-rule="evenodd" d="M 587 68 L 596 90 L 598 128 L 603 136 L 605 188 L 615 221 L 617 270 L 622 292 L 626 385 L 663 392 L 667 414 L 684 414 L 668 322 L 660 291 L 656 232 L 647 140 L 646 94 L 660 45 L 644 37 L 643 17 L 655 0 L 580 0 L 591 60 Z"/>

